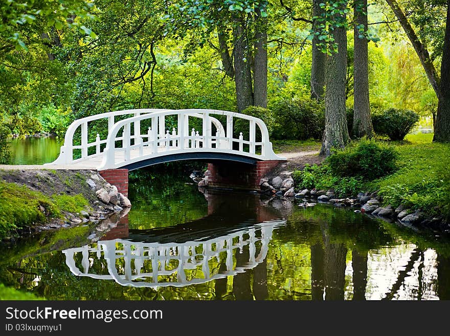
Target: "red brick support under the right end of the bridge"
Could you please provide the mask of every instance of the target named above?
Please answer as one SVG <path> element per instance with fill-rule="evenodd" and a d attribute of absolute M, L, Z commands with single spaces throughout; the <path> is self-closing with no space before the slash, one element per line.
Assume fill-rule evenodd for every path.
<path fill-rule="evenodd" d="M 258 161 L 256 165 L 236 162 L 209 163 L 208 187 L 259 191 L 261 178 L 284 162 Z"/>

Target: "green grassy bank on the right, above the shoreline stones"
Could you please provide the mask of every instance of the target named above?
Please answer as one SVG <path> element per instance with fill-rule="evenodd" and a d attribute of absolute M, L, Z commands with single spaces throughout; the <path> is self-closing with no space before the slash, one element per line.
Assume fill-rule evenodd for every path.
<path fill-rule="evenodd" d="M 299 188 L 335 189 L 340 197 L 355 196 L 362 191 L 378 191 L 383 205 L 404 205 L 430 216 L 443 214 L 450 218 L 450 144 L 432 143 L 432 134 L 408 135 L 404 141 L 390 142 L 387 147 L 396 153 L 394 168 L 386 176 L 364 177 L 361 171 L 339 174 L 328 161 L 322 166 L 306 167 L 293 174 Z M 383 147 L 382 145 L 381 147 Z M 351 152 L 350 149 L 348 152 Z M 368 172 L 383 170 L 383 157 L 372 158 L 366 153 Z M 348 158 L 352 158 L 348 155 Z M 351 160 L 351 159 L 347 159 Z M 378 160 L 378 161 L 377 161 Z M 352 165 L 347 162 L 347 165 Z"/>

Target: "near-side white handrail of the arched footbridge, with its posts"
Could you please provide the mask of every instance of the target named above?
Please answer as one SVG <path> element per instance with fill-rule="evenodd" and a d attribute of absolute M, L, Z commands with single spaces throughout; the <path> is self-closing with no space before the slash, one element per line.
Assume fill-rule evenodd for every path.
<path fill-rule="evenodd" d="M 225 134 L 225 129 L 223 128 L 222 124 L 211 115 L 221 115 L 227 117 L 227 134 Z M 116 148 L 115 142 L 117 140 L 122 140 L 122 138 L 118 138 L 118 132 L 122 127 L 124 128 L 124 133 L 128 133 L 130 131 L 131 123 L 141 122 L 142 120 L 146 119 L 153 119 L 152 120 L 152 132 L 155 132 L 154 127 L 157 127 L 158 125 L 158 119 L 157 118 L 164 118 L 169 115 L 177 115 L 178 116 L 178 134 L 175 134 L 174 136 L 171 135 L 170 132 L 167 133 L 167 139 L 164 139 L 163 137 L 157 137 L 155 134 L 152 135 L 152 140 L 150 140 L 150 132 L 149 135 L 143 136 L 144 138 L 147 138 L 146 143 L 134 143 L 134 145 L 131 145 L 128 141 L 125 144 L 122 144 L 122 147 Z M 184 116 L 193 116 L 203 119 L 203 126 L 202 126 L 202 135 L 189 135 L 189 129 L 185 129 L 185 125 L 180 123 L 184 123 Z M 243 140 L 242 133 L 239 137 L 239 139 L 233 138 L 233 118 L 239 118 L 244 120 L 249 120 L 250 122 L 250 139 L 248 141 Z M 211 127 L 209 125 L 209 122 L 213 123 L 217 128 L 217 135 L 213 136 L 211 135 Z M 261 132 L 261 141 L 256 142 L 256 125 L 259 127 Z M 150 129 L 149 129 L 150 131 Z M 158 135 L 160 136 L 160 135 Z M 129 137 L 129 136 L 128 136 Z M 256 117 L 248 116 L 236 112 L 231 111 L 223 111 L 223 110 L 215 110 L 215 109 L 179 109 L 179 110 L 164 110 L 164 111 L 158 111 L 151 114 L 145 114 L 145 115 L 139 115 L 136 117 L 127 118 L 121 121 L 118 121 L 114 124 L 114 127 L 110 130 L 108 134 L 108 138 L 106 140 L 106 148 L 104 150 L 104 156 L 103 161 L 99 169 L 110 169 L 110 168 L 116 168 L 118 164 L 116 164 L 115 161 L 115 151 L 116 150 L 123 150 L 125 151 L 125 160 L 129 161 L 130 158 L 130 150 L 134 148 L 139 148 L 142 156 L 143 152 L 143 146 L 148 145 L 150 146 L 150 143 L 152 143 L 152 151 L 154 151 L 153 154 L 158 153 L 158 147 L 161 146 L 161 143 L 164 143 L 164 146 L 167 147 L 167 142 L 174 143 L 176 142 L 178 145 L 173 146 L 179 147 L 174 149 L 179 150 L 186 150 L 190 149 L 185 146 L 185 141 L 194 141 L 197 143 L 202 144 L 202 149 L 211 149 L 212 143 L 215 141 L 216 147 L 214 149 L 220 150 L 223 152 L 230 152 L 230 153 L 237 153 L 237 154 L 244 154 L 252 156 L 255 156 L 256 158 L 263 159 L 263 160 L 280 160 L 283 158 L 280 158 L 278 155 L 276 155 L 272 149 L 272 143 L 269 141 L 269 134 L 267 130 L 267 126 L 264 124 L 264 122 Z M 227 142 L 227 146 L 222 145 L 221 142 Z M 232 147 L 233 142 L 239 142 L 239 150 L 234 150 Z M 249 152 L 243 151 L 243 144 L 248 144 L 250 146 Z M 261 154 L 256 154 L 255 152 L 255 146 L 261 146 Z M 200 151 L 197 146 L 195 146 L 197 151 Z M 168 148 L 170 149 L 170 148 Z M 122 164 L 121 162 L 120 164 Z"/>

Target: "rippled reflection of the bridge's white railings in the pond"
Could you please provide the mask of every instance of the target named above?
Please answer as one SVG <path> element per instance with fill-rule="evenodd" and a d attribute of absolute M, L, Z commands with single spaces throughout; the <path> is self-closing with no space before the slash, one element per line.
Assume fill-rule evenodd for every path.
<path fill-rule="evenodd" d="M 184 243 L 98 241 L 62 253 L 76 276 L 114 280 L 123 286 L 183 287 L 234 276 L 256 267 L 266 258 L 273 230 L 283 224 L 279 220 L 267 221 L 217 238 Z M 234 254 L 242 253 L 246 245 L 249 260 L 237 265 Z M 77 258 L 79 254 L 81 258 Z M 226 265 L 226 271 L 219 272 L 221 263 Z M 101 271 L 96 272 L 94 268 Z"/>

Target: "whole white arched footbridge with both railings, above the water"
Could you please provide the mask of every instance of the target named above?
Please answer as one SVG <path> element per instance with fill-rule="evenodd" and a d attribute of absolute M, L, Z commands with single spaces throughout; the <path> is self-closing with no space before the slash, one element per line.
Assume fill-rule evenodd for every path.
<path fill-rule="evenodd" d="M 74 121 L 58 158 L 46 166 L 133 170 L 188 159 L 285 160 L 274 153 L 259 118 L 212 109 L 131 109 Z"/>

